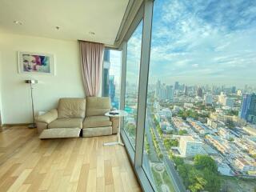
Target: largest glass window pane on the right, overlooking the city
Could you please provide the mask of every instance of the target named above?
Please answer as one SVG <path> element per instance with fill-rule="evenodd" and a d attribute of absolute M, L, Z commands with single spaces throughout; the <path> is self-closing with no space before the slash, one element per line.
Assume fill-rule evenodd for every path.
<path fill-rule="evenodd" d="M 256 1 L 154 1 L 143 168 L 157 191 L 256 189 Z"/>

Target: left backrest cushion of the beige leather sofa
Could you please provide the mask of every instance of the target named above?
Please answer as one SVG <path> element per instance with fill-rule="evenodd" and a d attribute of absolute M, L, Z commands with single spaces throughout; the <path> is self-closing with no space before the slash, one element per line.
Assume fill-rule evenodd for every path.
<path fill-rule="evenodd" d="M 58 118 L 85 118 L 85 98 L 60 98 L 58 101 Z"/>

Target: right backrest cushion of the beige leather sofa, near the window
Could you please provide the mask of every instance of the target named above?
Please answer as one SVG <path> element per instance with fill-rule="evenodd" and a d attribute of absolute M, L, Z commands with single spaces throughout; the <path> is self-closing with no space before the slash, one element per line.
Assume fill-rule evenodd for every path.
<path fill-rule="evenodd" d="M 100 116 L 110 111 L 110 98 L 87 97 L 86 116 Z"/>

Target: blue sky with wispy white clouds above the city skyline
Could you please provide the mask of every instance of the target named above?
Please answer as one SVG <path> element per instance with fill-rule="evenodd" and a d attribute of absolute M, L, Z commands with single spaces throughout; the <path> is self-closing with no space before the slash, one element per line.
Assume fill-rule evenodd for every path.
<path fill-rule="evenodd" d="M 142 22 L 128 41 L 128 82 L 138 82 L 141 39 Z M 256 1 L 155 0 L 149 77 L 256 86 Z"/>

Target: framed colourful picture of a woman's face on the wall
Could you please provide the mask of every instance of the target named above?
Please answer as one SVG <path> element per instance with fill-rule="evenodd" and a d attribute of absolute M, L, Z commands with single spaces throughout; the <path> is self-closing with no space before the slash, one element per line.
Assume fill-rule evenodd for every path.
<path fill-rule="evenodd" d="M 18 52 L 18 73 L 54 75 L 54 55 Z"/>

